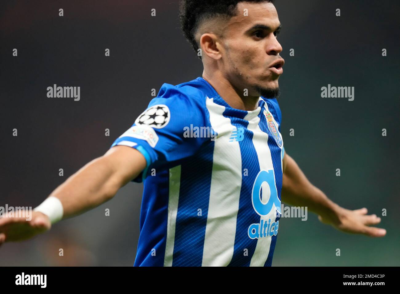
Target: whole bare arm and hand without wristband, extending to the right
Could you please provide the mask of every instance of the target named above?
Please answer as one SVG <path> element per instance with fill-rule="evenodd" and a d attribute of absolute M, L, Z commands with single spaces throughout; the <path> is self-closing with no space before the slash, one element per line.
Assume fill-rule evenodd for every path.
<path fill-rule="evenodd" d="M 380 222 L 375 214 L 367 215 L 368 210 L 361 208 L 348 210 L 332 202 L 320 189 L 310 183 L 296 162 L 285 152 L 283 162 L 281 198 L 293 206 L 307 206 L 318 214 L 324 224 L 330 224 L 343 232 L 365 234 L 372 237 L 386 235 L 382 228 L 370 227 Z"/>

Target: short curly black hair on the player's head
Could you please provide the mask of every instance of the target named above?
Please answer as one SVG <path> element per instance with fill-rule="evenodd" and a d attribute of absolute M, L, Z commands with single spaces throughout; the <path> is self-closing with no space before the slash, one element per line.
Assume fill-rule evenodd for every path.
<path fill-rule="evenodd" d="M 239 2 L 271 2 L 274 0 L 181 0 L 179 4 L 179 19 L 184 36 L 197 53 L 195 34 L 199 24 L 214 17 L 229 19 L 236 16 L 236 6 Z M 201 56 L 198 56 L 201 59 Z"/>

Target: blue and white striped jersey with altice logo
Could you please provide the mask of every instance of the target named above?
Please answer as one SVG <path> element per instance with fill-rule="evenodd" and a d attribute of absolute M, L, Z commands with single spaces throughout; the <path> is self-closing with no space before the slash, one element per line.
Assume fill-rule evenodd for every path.
<path fill-rule="evenodd" d="M 280 216 L 281 112 L 230 107 L 203 78 L 163 84 L 115 140 L 146 169 L 134 266 L 271 266 Z M 279 214 L 278 214 L 279 213 Z"/>

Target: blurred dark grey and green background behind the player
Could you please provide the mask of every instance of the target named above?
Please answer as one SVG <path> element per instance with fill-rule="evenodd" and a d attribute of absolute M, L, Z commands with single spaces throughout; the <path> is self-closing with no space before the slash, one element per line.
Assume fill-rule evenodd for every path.
<path fill-rule="evenodd" d="M 48 2 L 0 4 L 0 206 L 36 207 L 110 148 L 146 108 L 152 88 L 202 75 L 180 31 L 178 1 Z M 378 216 L 385 208 L 379 227 L 387 235 L 344 234 L 314 214 L 305 222 L 284 218 L 273 266 L 398 266 L 400 4 L 277 0 L 275 6 L 286 61 L 278 98 L 285 150 L 334 202 Z M 80 101 L 48 98 L 53 84 L 80 86 Z M 328 84 L 354 86 L 354 101 L 321 98 Z M 132 266 L 141 198 L 142 184 L 129 183 L 42 236 L 4 244 L 0 265 Z"/>

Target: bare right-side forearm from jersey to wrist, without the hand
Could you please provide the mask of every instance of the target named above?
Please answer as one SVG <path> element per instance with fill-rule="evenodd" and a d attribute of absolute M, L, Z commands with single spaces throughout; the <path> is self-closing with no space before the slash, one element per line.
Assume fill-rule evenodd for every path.
<path fill-rule="evenodd" d="M 307 206 L 308 210 L 316 214 L 331 214 L 339 208 L 324 192 L 310 183 L 290 156 L 283 174 L 281 198 L 293 206 Z"/>

